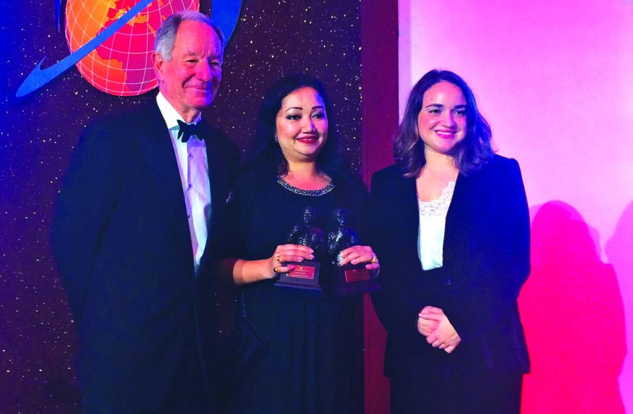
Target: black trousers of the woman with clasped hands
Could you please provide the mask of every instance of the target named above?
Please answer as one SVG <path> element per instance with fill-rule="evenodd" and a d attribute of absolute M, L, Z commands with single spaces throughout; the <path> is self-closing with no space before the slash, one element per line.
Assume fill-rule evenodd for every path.
<path fill-rule="evenodd" d="M 521 412 L 523 373 L 429 364 L 417 359 L 401 356 L 394 361 L 390 374 L 392 414 Z"/>

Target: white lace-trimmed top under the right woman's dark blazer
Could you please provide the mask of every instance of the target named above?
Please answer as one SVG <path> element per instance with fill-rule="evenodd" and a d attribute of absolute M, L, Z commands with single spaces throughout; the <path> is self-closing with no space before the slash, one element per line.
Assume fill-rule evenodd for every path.
<path fill-rule="evenodd" d="M 442 267 L 446 213 L 449 212 L 453 192 L 455 192 L 455 182 L 449 181 L 437 199 L 431 202 L 418 199 L 420 212 L 418 257 L 424 270 Z"/>

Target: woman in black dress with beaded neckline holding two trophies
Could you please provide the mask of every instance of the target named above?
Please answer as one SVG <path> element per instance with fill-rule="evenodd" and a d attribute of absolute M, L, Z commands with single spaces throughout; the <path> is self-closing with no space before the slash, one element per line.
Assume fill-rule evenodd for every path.
<path fill-rule="evenodd" d="M 288 262 L 317 254 L 287 243 L 307 208 L 311 225 L 325 231 L 335 225 L 335 210 L 346 211 L 350 228 L 361 230 L 364 221 L 366 189 L 343 163 L 322 84 L 307 75 L 275 82 L 263 100 L 256 138 L 259 152 L 235 188 L 239 259 L 225 261 L 225 269 L 241 288 L 239 312 L 266 349 L 239 379 L 232 412 L 360 413 L 361 295 L 332 298 L 274 285 L 291 271 Z M 368 246 L 342 256 L 343 263 L 379 268 Z"/>

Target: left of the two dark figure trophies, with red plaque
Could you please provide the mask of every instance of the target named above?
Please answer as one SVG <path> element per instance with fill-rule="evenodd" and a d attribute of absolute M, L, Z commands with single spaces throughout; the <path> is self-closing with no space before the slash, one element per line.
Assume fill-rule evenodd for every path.
<path fill-rule="evenodd" d="M 303 223 L 292 228 L 288 236 L 288 243 L 304 245 L 314 250 L 315 259 L 322 256 L 325 250 L 325 232 L 313 226 L 314 210 L 307 207 L 303 210 Z M 275 286 L 291 287 L 311 291 L 322 291 L 320 284 L 321 263 L 318 260 L 303 260 L 301 262 L 284 263 L 292 271 L 280 273 Z"/>

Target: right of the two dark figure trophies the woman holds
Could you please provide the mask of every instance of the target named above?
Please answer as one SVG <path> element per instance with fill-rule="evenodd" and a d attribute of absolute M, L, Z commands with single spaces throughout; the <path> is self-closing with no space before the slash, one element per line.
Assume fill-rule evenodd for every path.
<path fill-rule="evenodd" d="M 341 265 L 342 250 L 359 244 L 354 230 L 347 227 L 344 210 L 333 213 L 335 228 L 328 233 L 328 253 L 332 265 L 332 294 L 334 296 L 356 295 L 358 293 L 373 292 L 379 289 L 376 283 L 375 271 L 366 269 L 367 263 Z"/>

